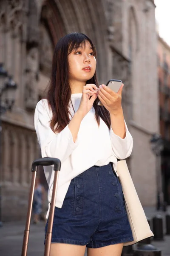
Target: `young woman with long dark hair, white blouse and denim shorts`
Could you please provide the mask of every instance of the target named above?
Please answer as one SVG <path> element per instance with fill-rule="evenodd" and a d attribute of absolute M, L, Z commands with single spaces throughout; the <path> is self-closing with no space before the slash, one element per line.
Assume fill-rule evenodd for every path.
<path fill-rule="evenodd" d="M 86 35 L 58 41 L 47 99 L 37 103 L 34 116 L 42 157 L 62 163 L 51 256 L 84 256 L 85 247 L 88 256 L 120 256 L 123 243 L 133 241 L 116 173 L 117 159 L 129 157 L 133 147 L 122 88 L 114 93 L 98 85 L 96 50 Z M 50 207 L 54 170 L 44 170 Z"/>

